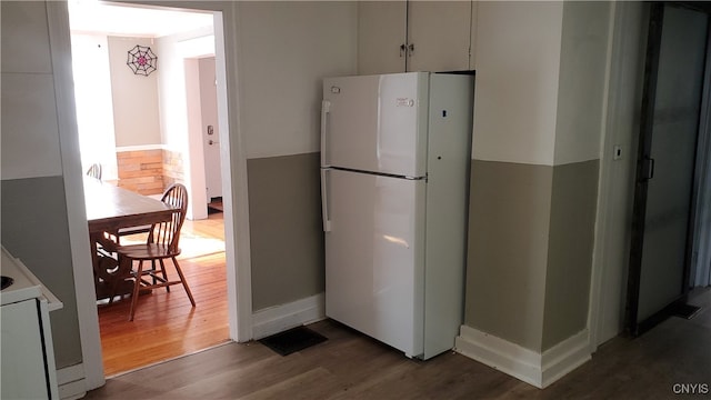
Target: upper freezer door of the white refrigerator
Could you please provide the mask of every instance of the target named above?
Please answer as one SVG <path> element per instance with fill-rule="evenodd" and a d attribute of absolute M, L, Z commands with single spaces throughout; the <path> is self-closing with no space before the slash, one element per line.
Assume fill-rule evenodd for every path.
<path fill-rule="evenodd" d="M 428 80 L 424 72 L 324 79 L 322 167 L 424 176 Z"/>

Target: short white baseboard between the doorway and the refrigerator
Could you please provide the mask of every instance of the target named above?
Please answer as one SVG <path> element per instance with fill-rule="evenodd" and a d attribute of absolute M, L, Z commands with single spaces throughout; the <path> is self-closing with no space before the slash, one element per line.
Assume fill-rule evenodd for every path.
<path fill-rule="evenodd" d="M 326 297 L 323 293 L 319 293 L 254 312 L 252 314 L 252 337 L 254 339 L 266 338 L 323 318 L 326 318 Z"/>

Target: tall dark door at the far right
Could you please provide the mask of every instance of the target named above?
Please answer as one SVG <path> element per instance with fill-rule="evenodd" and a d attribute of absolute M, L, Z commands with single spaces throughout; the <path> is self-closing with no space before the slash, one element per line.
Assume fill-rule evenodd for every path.
<path fill-rule="evenodd" d="M 690 223 L 709 17 L 652 3 L 644 77 L 627 329 L 668 317 L 689 288 Z"/>

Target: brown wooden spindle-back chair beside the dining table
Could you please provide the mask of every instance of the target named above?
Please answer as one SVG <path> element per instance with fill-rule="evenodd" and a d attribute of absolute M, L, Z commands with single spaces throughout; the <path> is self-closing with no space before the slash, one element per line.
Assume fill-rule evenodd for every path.
<path fill-rule="evenodd" d="M 174 183 L 166 190 L 161 200 L 177 209 L 171 221 L 153 224 L 146 244 L 117 247 L 119 263 L 131 268 L 131 276 L 134 280 L 129 321 L 133 320 L 141 290 L 166 288 L 167 291 L 170 291 L 171 286 L 182 284 L 192 307 L 196 307 L 192 292 L 190 292 L 186 277 L 176 259 L 180 254 L 178 242 L 180 240 L 180 228 L 182 228 L 182 223 L 186 220 L 186 211 L 188 209 L 188 190 L 184 186 Z M 168 279 L 163 262 L 166 259 L 171 259 L 176 266 L 179 276 L 178 280 Z M 136 270 L 132 269 L 133 261 L 138 261 L 138 269 Z M 143 261 L 150 261 L 151 268 L 143 269 Z"/>

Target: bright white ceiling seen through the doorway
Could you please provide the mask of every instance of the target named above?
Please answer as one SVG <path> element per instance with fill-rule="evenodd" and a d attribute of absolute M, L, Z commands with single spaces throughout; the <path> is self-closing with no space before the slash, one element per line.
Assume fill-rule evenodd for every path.
<path fill-rule="evenodd" d="M 212 14 L 70 0 L 69 26 L 77 33 L 159 38 L 211 27 Z"/>

